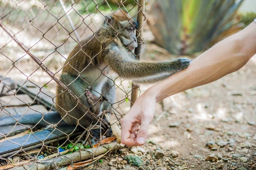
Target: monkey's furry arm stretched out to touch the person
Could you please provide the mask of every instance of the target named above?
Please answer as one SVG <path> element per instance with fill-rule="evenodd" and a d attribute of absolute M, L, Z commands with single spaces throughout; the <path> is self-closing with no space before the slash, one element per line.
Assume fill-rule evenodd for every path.
<path fill-rule="evenodd" d="M 107 50 L 105 63 L 113 71 L 123 78 L 143 78 L 147 76 L 159 75 L 161 73 L 174 74 L 189 66 L 190 60 L 187 58 L 178 58 L 173 61 L 137 61 L 125 56 L 119 51 L 118 47 L 112 47 Z"/>

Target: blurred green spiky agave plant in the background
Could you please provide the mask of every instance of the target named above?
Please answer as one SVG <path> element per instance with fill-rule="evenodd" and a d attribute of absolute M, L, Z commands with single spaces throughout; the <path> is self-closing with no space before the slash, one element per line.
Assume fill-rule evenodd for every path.
<path fill-rule="evenodd" d="M 243 0 L 154 0 L 148 25 L 155 43 L 176 55 L 201 52 L 238 31 Z"/>

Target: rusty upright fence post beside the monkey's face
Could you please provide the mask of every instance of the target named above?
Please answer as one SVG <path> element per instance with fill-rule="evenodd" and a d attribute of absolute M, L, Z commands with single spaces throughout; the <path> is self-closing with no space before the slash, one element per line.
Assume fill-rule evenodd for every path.
<path fill-rule="evenodd" d="M 136 37 L 137 37 L 137 43 L 138 46 L 135 49 L 135 55 L 137 56 L 137 59 L 140 60 L 140 55 L 142 52 L 142 45 L 144 44 L 143 40 L 143 25 L 145 20 L 145 0 L 138 0 L 138 14 L 137 14 L 137 22 L 139 23 L 139 28 L 136 31 Z M 138 85 L 132 84 L 132 90 L 131 90 L 131 107 L 136 101 L 138 97 Z"/>

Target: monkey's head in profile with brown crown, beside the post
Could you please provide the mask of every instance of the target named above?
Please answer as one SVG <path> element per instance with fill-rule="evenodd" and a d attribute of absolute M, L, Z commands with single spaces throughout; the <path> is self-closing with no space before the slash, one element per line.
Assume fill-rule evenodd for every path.
<path fill-rule="evenodd" d="M 124 10 L 117 10 L 110 16 L 106 16 L 105 24 L 108 25 L 110 30 L 113 30 L 113 34 L 122 42 L 122 45 L 128 50 L 134 50 L 137 44 L 137 37 L 134 33 L 139 24 L 131 19 L 127 12 Z"/>

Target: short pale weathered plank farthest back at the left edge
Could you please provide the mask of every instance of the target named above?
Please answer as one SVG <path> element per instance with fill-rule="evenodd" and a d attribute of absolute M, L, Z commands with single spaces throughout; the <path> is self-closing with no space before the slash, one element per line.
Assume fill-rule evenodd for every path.
<path fill-rule="evenodd" d="M 26 104 L 31 104 L 32 99 L 29 95 L 8 95 L 0 97 L 0 106 L 1 107 L 11 107 L 11 106 L 23 106 Z"/>

